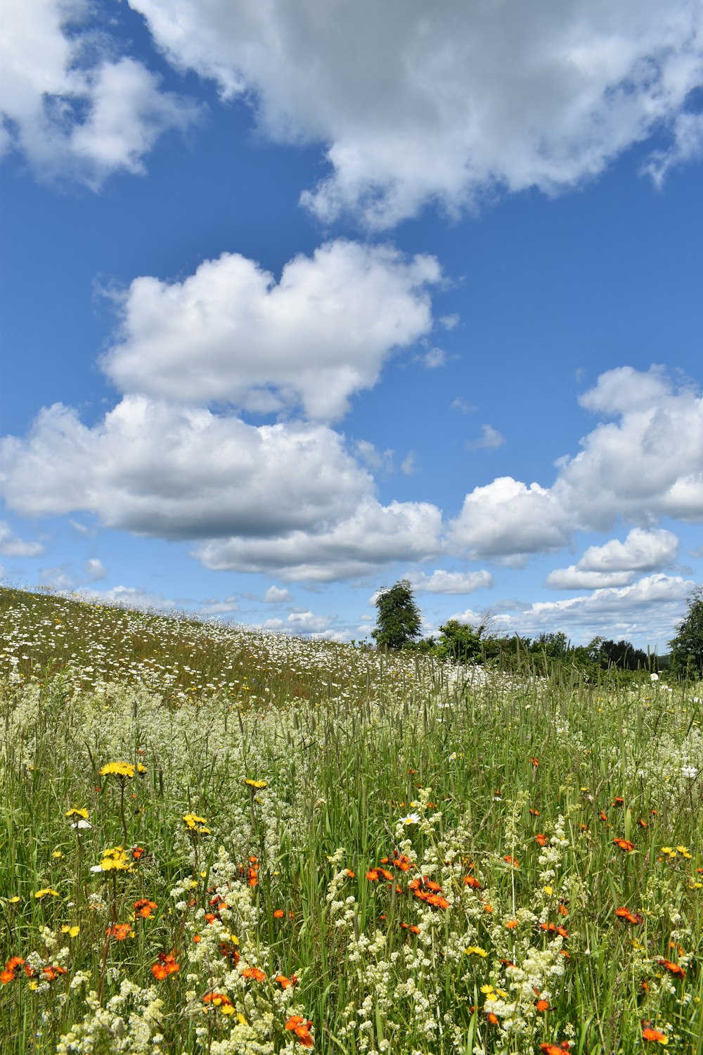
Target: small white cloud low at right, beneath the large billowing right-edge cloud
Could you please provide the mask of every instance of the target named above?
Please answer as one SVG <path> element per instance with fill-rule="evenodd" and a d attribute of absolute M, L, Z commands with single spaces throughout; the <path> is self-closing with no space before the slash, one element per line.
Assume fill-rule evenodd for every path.
<path fill-rule="evenodd" d="M 604 545 L 591 545 L 578 563 L 550 572 L 545 586 L 552 590 L 624 587 L 638 572 L 676 563 L 678 555 L 679 539 L 672 532 L 633 528 L 624 542 L 613 538 Z"/>

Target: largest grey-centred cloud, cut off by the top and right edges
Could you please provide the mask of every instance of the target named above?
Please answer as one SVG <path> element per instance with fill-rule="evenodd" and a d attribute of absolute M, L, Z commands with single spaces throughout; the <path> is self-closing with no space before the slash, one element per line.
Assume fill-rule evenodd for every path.
<path fill-rule="evenodd" d="M 371 226 L 429 200 L 547 193 L 598 175 L 673 128 L 703 81 L 689 0 L 130 0 L 179 69 L 251 98 L 279 141 L 327 146 L 331 174 L 302 200 Z M 652 159 L 655 174 L 666 162 Z"/>

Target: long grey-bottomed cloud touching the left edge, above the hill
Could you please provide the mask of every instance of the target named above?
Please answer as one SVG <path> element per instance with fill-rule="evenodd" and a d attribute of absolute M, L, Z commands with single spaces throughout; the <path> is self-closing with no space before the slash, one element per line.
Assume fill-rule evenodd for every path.
<path fill-rule="evenodd" d="M 254 427 L 138 396 L 94 428 L 55 404 L 26 440 L 2 440 L 0 454 L 6 501 L 21 514 L 84 510 L 106 526 L 162 538 L 319 530 L 373 487 L 324 425 Z"/>

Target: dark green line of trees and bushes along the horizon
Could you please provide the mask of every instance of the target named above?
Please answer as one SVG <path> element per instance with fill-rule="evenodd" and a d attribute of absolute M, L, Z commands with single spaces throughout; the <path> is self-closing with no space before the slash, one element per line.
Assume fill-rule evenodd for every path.
<path fill-rule="evenodd" d="M 676 677 L 703 675 L 703 587 L 697 587 L 688 597 L 687 613 L 675 628 L 675 636 L 668 642 L 670 652 L 663 656 L 637 649 L 630 641 L 604 637 L 594 637 L 588 645 L 572 646 L 562 631 L 534 638 L 520 634 L 502 636 L 491 629 L 489 618 L 475 627 L 448 619 L 440 627 L 438 637 L 423 637 L 422 616 L 408 579 L 380 590 L 375 605 L 376 627 L 372 637 L 378 649 L 414 649 L 455 663 L 493 661 L 509 667 L 521 656 L 540 656 L 584 669 L 614 668 L 650 673 L 669 669 Z"/>

